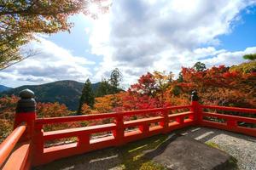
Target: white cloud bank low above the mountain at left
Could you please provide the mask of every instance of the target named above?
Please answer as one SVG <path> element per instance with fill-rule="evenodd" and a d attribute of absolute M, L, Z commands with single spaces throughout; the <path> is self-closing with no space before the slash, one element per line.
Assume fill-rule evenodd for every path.
<path fill-rule="evenodd" d="M 85 78 L 92 76 L 86 66 L 94 65 L 94 62 L 84 57 L 74 56 L 67 49 L 45 38 L 40 36 L 39 42 L 31 42 L 24 47 L 37 50 L 38 55 L 1 71 L 0 79 L 34 83 L 65 79 L 84 82 Z"/>

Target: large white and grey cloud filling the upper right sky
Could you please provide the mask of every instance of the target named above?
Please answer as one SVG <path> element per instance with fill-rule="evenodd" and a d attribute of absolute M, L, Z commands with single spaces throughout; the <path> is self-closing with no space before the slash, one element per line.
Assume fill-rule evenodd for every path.
<path fill-rule="evenodd" d="M 234 65 L 248 52 L 217 50 L 218 36 L 230 34 L 241 10 L 256 1 L 119 0 L 110 12 L 94 20 L 91 53 L 102 56 L 96 79 L 114 67 L 123 71 L 125 84 L 147 71 L 174 71 L 196 61 Z M 204 48 L 201 48 L 204 46 Z"/>

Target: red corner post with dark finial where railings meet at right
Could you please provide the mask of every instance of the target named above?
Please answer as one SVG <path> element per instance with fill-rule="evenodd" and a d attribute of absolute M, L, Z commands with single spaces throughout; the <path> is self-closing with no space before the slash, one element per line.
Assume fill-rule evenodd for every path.
<path fill-rule="evenodd" d="M 191 111 L 193 111 L 193 117 L 189 117 L 189 118 L 194 119 L 195 125 L 200 125 L 202 121 L 202 114 L 201 114 L 202 111 L 201 111 L 201 106 L 198 100 L 199 100 L 199 97 L 197 95 L 197 92 L 194 90 L 191 95 L 191 105 L 192 105 Z"/>

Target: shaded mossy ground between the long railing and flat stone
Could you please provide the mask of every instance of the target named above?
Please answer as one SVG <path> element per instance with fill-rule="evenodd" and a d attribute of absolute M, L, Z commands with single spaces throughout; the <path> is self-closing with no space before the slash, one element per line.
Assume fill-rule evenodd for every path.
<path fill-rule="evenodd" d="M 53 161 L 41 167 L 34 167 L 34 170 L 56 170 L 56 169 L 165 169 L 143 157 L 144 151 L 154 150 L 159 147 L 168 135 L 157 135 L 148 139 L 131 142 L 118 148 L 96 150 L 79 156 L 71 156 L 58 161 Z"/>

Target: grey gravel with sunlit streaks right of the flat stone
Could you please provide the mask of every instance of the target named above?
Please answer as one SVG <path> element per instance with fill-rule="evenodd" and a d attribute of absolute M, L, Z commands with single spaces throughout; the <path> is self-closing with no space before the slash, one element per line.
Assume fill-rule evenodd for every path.
<path fill-rule="evenodd" d="M 201 142 L 218 144 L 221 150 L 236 158 L 240 170 L 256 170 L 256 138 L 208 127 L 190 127 L 179 133 Z"/>

